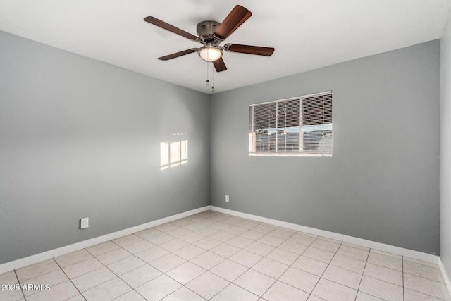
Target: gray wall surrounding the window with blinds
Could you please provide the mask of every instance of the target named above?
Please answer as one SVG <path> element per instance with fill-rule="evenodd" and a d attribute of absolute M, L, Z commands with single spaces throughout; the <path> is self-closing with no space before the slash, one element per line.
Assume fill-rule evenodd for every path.
<path fill-rule="evenodd" d="M 213 95 L 211 204 L 438 254 L 439 56 L 435 40 Z M 248 156 L 249 104 L 328 90 L 332 158 Z"/>

